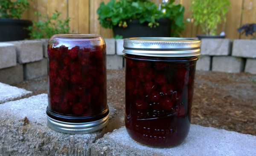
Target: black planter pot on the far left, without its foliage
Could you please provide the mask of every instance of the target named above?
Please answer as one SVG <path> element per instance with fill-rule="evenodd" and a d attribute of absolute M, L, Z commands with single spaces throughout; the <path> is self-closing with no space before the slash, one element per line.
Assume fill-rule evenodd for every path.
<path fill-rule="evenodd" d="M 30 20 L 0 18 L 0 42 L 29 38 L 29 31 L 26 29 L 29 26 L 32 26 Z"/>

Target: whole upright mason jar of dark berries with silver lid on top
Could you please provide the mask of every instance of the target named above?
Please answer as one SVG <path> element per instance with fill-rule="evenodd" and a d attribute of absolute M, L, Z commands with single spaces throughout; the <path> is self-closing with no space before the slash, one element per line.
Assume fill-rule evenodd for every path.
<path fill-rule="evenodd" d="M 124 39 L 125 127 L 135 142 L 173 147 L 189 133 L 200 40 Z"/>

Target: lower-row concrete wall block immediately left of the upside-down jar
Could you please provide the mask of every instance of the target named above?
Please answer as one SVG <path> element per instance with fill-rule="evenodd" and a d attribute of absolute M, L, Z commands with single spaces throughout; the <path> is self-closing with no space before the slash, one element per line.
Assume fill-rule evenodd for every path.
<path fill-rule="evenodd" d="M 47 75 L 47 58 L 43 60 L 24 64 L 24 78 L 30 80 Z"/>

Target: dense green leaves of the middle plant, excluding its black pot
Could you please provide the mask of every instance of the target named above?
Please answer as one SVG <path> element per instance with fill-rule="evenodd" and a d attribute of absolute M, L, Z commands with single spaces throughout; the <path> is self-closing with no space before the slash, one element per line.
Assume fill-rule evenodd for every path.
<path fill-rule="evenodd" d="M 112 28 L 117 24 L 119 27 L 127 27 L 126 20 L 138 19 L 140 23 L 148 22 L 148 26 L 156 27 L 162 17 L 172 20 L 172 36 L 180 36 L 180 32 L 185 28 L 183 23 L 184 7 L 180 4 L 173 4 L 171 0 L 165 8 L 166 12 L 162 13 L 158 7 L 149 0 L 110 0 L 105 5 L 100 4 L 97 14 L 99 14 L 99 23 L 103 28 Z"/>

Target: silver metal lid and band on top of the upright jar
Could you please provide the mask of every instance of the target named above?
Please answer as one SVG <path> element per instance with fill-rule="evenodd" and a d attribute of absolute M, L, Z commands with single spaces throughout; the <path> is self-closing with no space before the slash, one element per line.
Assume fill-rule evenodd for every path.
<path fill-rule="evenodd" d="M 201 40 L 188 38 L 125 38 L 125 54 L 157 57 L 191 57 L 201 55 Z"/>

